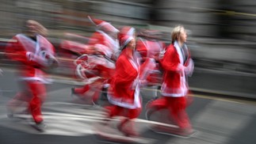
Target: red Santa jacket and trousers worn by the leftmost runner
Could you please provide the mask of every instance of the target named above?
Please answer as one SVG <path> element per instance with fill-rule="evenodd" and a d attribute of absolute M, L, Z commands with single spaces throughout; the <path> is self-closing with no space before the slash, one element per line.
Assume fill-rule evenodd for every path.
<path fill-rule="evenodd" d="M 44 71 L 45 67 L 51 66 L 51 59 L 55 59 L 55 50 L 52 44 L 44 36 L 36 35 L 36 40 L 17 34 L 13 36 L 15 43 L 6 47 L 6 54 L 10 59 L 21 63 L 21 80 L 27 86 L 26 91 L 17 93 L 10 101 L 12 107 L 15 100 L 26 100 L 29 103 L 29 111 L 36 123 L 43 121 L 41 104 L 46 97 L 45 83 L 50 82 Z"/>

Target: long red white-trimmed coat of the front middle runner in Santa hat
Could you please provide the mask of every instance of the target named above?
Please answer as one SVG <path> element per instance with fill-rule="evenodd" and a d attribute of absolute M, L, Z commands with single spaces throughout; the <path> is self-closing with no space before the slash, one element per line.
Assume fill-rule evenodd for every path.
<path fill-rule="evenodd" d="M 124 108 L 140 108 L 139 102 L 139 59 L 129 59 L 124 49 L 116 63 L 116 73 L 109 85 L 109 102 Z"/>

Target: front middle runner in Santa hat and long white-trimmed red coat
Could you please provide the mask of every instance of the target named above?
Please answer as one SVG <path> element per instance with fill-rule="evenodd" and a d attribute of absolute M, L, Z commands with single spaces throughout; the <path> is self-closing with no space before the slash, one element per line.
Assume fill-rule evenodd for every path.
<path fill-rule="evenodd" d="M 121 36 L 122 51 L 116 62 L 116 72 L 109 85 L 108 99 L 112 104 L 106 107 L 108 118 L 124 116 L 118 129 L 128 136 L 138 135 L 133 124 L 129 129 L 124 129 L 128 122 L 139 116 L 141 112 L 141 100 L 139 98 L 139 57 L 136 54 L 136 40 L 134 36 Z"/>

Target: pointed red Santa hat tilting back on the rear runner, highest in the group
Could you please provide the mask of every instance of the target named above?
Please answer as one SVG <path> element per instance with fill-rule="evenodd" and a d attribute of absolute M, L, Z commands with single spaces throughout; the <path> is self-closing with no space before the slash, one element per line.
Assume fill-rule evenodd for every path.
<path fill-rule="evenodd" d="M 93 18 L 90 16 L 88 16 L 88 18 L 94 25 L 96 25 L 97 29 L 101 29 L 106 32 L 119 32 L 119 30 L 115 28 L 113 25 L 111 25 L 109 22 L 102 21 L 100 19 Z"/>

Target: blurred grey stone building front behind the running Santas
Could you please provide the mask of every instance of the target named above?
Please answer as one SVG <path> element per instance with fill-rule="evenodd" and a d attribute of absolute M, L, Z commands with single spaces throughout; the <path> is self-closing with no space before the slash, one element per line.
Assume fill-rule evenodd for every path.
<path fill-rule="evenodd" d="M 117 28 L 131 25 L 163 32 L 170 43 L 178 24 L 189 30 L 188 46 L 195 61 L 193 90 L 256 98 L 256 1 L 228 0 L 0 0 L 1 50 L 22 32 L 28 19 L 49 30 L 59 46 L 63 33 L 90 36 L 95 31 L 88 15 Z M 4 57 L 2 57 L 4 59 Z"/>

